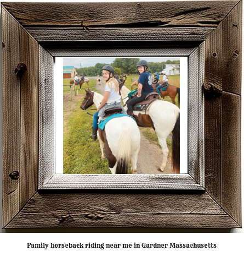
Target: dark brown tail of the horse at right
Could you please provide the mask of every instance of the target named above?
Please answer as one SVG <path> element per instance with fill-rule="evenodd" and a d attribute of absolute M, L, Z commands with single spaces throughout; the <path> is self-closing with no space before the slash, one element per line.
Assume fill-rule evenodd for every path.
<path fill-rule="evenodd" d="M 172 165 L 173 174 L 180 173 L 180 113 L 172 131 Z"/>

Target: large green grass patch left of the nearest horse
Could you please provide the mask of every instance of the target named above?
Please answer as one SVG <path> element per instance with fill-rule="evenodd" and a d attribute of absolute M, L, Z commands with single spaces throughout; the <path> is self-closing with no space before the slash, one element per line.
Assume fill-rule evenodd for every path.
<path fill-rule="evenodd" d="M 90 79 L 89 85 L 95 85 L 95 83 L 94 79 Z M 76 87 L 79 87 L 80 90 L 80 86 Z M 101 160 L 99 141 L 90 139 L 93 117 L 81 110 L 80 105 L 83 100 L 84 98 L 77 101 L 71 113 L 64 117 L 66 121 L 63 143 L 64 173 L 111 173 L 107 159 Z M 69 105 L 64 105 L 64 114 L 67 113 L 67 107 Z M 94 113 L 95 111 L 89 112 Z"/>

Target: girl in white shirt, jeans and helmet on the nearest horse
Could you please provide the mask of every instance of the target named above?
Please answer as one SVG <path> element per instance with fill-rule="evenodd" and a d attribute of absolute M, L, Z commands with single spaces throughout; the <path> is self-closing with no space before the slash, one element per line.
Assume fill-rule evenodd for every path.
<path fill-rule="evenodd" d="M 126 114 L 123 106 L 121 105 L 121 96 L 118 90 L 118 80 L 114 78 L 115 70 L 110 65 L 105 65 L 103 67 L 103 78 L 106 81 L 105 84 L 105 94 L 103 100 L 101 101 L 97 112 L 93 116 L 93 127 L 92 127 L 92 138 L 97 139 L 98 130 L 98 118 L 100 119 L 105 116 L 105 111 L 110 108 L 121 108 L 121 113 Z"/>

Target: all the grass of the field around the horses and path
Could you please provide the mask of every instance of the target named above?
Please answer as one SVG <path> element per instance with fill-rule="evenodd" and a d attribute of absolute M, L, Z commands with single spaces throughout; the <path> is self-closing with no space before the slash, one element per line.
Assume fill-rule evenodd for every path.
<path fill-rule="evenodd" d="M 171 80 L 170 80 L 171 79 Z M 172 82 L 171 82 L 172 81 Z M 68 86 L 63 86 L 63 92 L 65 94 L 70 94 L 69 79 L 64 79 L 64 84 Z M 126 87 L 130 90 L 130 77 L 126 80 Z M 169 77 L 169 84 L 179 87 L 179 76 Z M 90 79 L 89 88 L 93 91 L 95 90 L 96 80 Z M 78 90 L 78 95 L 85 93 L 84 89 L 87 89 L 87 84 L 82 86 L 76 86 Z M 99 91 L 97 91 L 99 92 Z M 75 97 L 75 96 L 73 96 Z M 167 101 L 171 102 L 171 99 L 167 97 Z M 78 101 L 68 101 L 64 105 L 64 141 L 63 141 L 63 165 L 64 173 L 83 173 L 83 174 L 100 174 L 100 173 L 110 173 L 108 167 L 107 159 L 101 160 L 101 150 L 100 143 L 98 140 L 93 141 L 90 139 L 92 134 L 92 121 L 93 117 L 87 115 L 85 111 L 82 111 L 80 105 L 84 97 L 81 97 Z M 176 100 L 178 101 L 178 100 Z M 178 104 L 178 102 L 177 102 Z M 95 107 L 92 107 L 95 108 Z M 94 113 L 95 111 L 88 111 L 89 113 Z M 139 128 L 143 135 L 151 141 L 158 145 L 160 150 L 160 145 L 158 144 L 157 135 L 152 128 Z M 167 139 L 167 145 L 169 148 L 169 157 L 171 156 L 171 140 Z M 130 172 L 131 173 L 131 172 Z"/>

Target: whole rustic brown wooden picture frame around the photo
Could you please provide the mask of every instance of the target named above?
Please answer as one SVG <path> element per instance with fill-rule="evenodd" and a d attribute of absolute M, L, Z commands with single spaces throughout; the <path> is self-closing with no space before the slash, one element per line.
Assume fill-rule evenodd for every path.
<path fill-rule="evenodd" d="M 242 2 L 167 2 L 165 15 L 163 4 L 151 2 L 149 9 L 146 2 L 116 3 L 107 15 L 98 3 L 1 4 L 3 228 L 241 227 Z M 77 8 L 86 8 L 82 21 L 73 15 Z M 164 176 L 160 189 L 153 176 L 151 190 L 143 189 L 143 179 L 137 190 L 82 189 L 72 181 L 60 186 L 50 171 L 54 152 L 47 157 L 43 150 L 52 140 L 46 136 L 53 126 L 52 100 L 39 89 L 52 88 L 54 57 L 136 56 L 149 48 L 152 55 L 180 49 L 191 59 L 204 58 L 194 62 L 203 67 L 194 67 L 191 80 L 205 95 L 204 103 L 196 99 L 194 105 L 204 105 L 204 138 L 192 138 L 204 147 L 204 170 L 197 157 L 202 152 L 190 150 L 197 159 L 190 161 L 194 171 Z M 195 130 L 201 129 L 196 123 Z"/>

